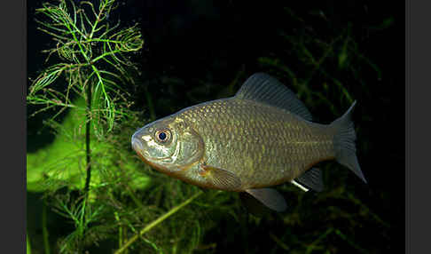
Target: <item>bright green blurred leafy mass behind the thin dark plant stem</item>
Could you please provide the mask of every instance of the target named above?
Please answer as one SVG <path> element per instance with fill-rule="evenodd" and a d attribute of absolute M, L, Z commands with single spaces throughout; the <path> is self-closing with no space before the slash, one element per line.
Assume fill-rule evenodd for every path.
<path fill-rule="evenodd" d="M 80 108 L 85 107 L 85 101 L 77 99 L 74 105 L 76 107 L 68 112 L 63 123 L 49 122 L 56 130 L 51 145 L 27 154 L 27 191 L 47 192 L 61 187 L 80 189 L 84 186 L 85 111 Z M 128 180 L 134 189 L 145 188 L 149 179 L 136 171 L 140 163 L 129 159 L 130 151 L 117 147 L 118 141 L 114 139 L 114 135 L 109 135 L 105 140 L 95 139 L 92 143 L 92 155 L 103 160 L 93 163 L 91 187 L 114 184 L 111 183 L 113 180 Z"/>

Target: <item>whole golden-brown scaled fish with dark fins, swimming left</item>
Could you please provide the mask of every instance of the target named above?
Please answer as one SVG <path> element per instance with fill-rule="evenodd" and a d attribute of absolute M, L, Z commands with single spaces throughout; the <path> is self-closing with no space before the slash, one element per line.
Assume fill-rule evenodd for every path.
<path fill-rule="evenodd" d="M 294 91 L 276 78 L 251 75 L 230 98 L 186 107 L 138 129 L 131 147 L 144 163 L 201 188 L 249 194 L 271 210 L 286 210 L 273 188 L 286 182 L 321 192 L 315 164 L 336 160 L 366 183 L 359 166 L 352 112 L 313 122 Z"/>

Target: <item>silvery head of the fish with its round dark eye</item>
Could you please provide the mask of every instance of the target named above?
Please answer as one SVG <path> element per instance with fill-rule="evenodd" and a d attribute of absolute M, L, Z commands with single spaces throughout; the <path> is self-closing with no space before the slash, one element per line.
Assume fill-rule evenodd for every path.
<path fill-rule="evenodd" d="M 200 135 L 176 116 L 148 123 L 133 134 L 131 145 L 145 163 L 176 177 L 204 154 Z"/>

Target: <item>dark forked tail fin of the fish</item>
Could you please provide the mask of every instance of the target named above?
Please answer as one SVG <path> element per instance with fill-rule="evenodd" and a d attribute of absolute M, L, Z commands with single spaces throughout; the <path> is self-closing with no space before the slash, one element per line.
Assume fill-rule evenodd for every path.
<path fill-rule="evenodd" d="M 344 115 L 331 123 L 335 129 L 333 148 L 337 162 L 348 167 L 350 171 L 353 171 L 357 177 L 366 183 L 364 174 L 357 162 L 357 147 L 355 146 L 357 134 L 355 133 L 355 126 L 351 119 L 351 115 L 356 104 L 357 101 L 354 101 L 352 106 L 350 106 L 349 110 L 344 113 Z"/>

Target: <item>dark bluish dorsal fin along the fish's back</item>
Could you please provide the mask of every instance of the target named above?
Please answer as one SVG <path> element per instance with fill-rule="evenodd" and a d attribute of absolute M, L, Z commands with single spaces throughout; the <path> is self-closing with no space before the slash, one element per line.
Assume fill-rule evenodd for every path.
<path fill-rule="evenodd" d="M 293 91 L 274 77 L 264 73 L 251 75 L 235 94 L 235 98 L 252 99 L 274 107 L 281 107 L 305 120 L 312 120 L 309 109 L 303 105 Z"/>

